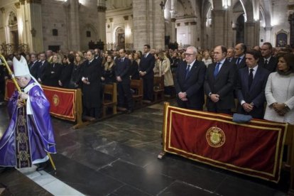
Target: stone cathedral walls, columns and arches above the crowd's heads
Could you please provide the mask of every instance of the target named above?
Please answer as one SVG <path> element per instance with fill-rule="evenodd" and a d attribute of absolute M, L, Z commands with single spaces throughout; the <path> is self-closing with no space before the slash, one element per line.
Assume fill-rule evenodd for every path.
<path fill-rule="evenodd" d="M 293 44 L 292 0 L 20 0 L 0 2 L 0 51 L 211 49 Z"/>

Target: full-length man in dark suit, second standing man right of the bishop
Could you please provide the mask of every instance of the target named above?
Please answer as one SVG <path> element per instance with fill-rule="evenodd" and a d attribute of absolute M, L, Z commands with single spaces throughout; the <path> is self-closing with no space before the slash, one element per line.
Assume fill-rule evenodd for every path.
<path fill-rule="evenodd" d="M 125 58 L 126 50 L 119 50 L 120 58 L 116 58 L 114 72 L 116 75 L 117 89 L 119 92 L 118 107 L 124 107 L 125 98 L 127 105 L 127 113 L 133 111 L 133 98 L 131 95 L 131 80 L 129 75 L 129 69 L 131 67 L 131 60 Z"/>

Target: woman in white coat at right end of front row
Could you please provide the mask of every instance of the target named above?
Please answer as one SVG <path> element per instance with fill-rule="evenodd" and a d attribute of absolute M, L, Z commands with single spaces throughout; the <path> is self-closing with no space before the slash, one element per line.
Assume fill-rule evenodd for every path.
<path fill-rule="evenodd" d="M 294 55 L 278 55 L 278 71 L 268 76 L 266 83 L 266 113 L 264 119 L 294 124 Z"/>

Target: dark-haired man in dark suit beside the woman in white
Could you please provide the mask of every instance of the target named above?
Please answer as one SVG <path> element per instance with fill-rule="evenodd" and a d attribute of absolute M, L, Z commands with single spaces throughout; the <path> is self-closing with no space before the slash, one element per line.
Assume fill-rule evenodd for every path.
<path fill-rule="evenodd" d="M 246 53 L 247 67 L 238 70 L 236 97 L 239 114 L 249 114 L 256 119 L 263 119 L 266 102 L 264 89 L 270 72 L 258 66 L 259 58 L 260 53 L 257 50 L 249 50 Z"/>

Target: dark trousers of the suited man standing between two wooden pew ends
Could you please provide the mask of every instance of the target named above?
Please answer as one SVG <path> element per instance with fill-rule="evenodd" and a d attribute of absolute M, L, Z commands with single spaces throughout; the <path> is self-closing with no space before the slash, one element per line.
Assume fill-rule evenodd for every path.
<path fill-rule="evenodd" d="M 131 95 L 131 83 L 117 83 L 117 89 L 119 92 L 118 106 L 124 107 L 126 103 L 127 109 L 132 110 L 134 108 L 133 97 Z"/>

